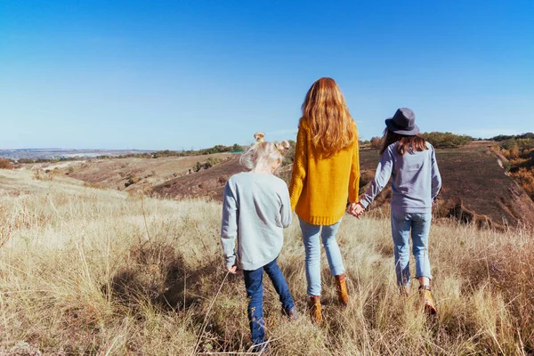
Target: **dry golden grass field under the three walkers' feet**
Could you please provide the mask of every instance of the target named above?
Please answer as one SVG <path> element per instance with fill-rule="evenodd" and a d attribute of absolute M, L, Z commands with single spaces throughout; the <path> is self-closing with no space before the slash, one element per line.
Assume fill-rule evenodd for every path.
<path fill-rule="evenodd" d="M 247 298 L 242 276 L 223 268 L 219 203 L 11 170 L 0 170 L 0 191 L 0 354 L 247 352 Z M 266 284 L 271 355 L 534 353 L 531 231 L 434 224 L 435 320 L 416 291 L 408 300 L 397 292 L 387 214 L 346 216 L 338 239 L 351 303 L 338 307 L 323 261 L 318 328 L 304 310 L 298 224 L 287 229 L 279 264 L 301 318 L 282 318 Z"/>

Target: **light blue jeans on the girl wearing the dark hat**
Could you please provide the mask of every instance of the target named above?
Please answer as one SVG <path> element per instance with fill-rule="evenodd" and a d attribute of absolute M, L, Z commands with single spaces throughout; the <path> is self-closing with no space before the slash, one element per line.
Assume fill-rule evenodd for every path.
<path fill-rule="evenodd" d="M 395 272 L 397 284 L 409 286 L 409 231 L 411 229 L 412 253 L 416 260 L 416 278 L 428 277 L 430 261 L 428 259 L 428 233 L 432 214 L 396 214 L 392 212 L 392 237 L 395 253 Z"/>

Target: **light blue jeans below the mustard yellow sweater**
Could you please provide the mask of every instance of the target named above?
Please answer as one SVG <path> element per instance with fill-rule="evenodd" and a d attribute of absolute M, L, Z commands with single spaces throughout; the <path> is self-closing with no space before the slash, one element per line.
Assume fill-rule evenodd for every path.
<path fill-rule="evenodd" d="M 341 220 L 333 225 L 313 225 L 299 219 L 303 231 L 304 251 L 306 252 L 306 280 L 308 295 L 320 295 L 320 240 L 327 253 L 328 265 L 333 276 L 344 273 L 341 251 L 337 246 L 336 232 Z"/>

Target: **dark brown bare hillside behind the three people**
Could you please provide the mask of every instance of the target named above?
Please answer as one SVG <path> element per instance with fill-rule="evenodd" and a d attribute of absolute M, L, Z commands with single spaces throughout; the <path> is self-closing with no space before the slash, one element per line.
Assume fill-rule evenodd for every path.
<path fill-rule="evenodd" d="M 438 206 L 439 217 L 456 217 L 481 227 L 504 229 L 506 225 L 534 226 L 534 203 L 499 166 L 490 150 L 494 142 L 472 142 L 463 148 L 437 150 L 443 180 Z M 376 150 L 360 151 L 361 191 L 367 189 L 379 160 Z M 244 171 L 234 157 L 206 171 L 172 179 L 156 186 L 151 195 L 161 198 L 209 197 L 221 199 L 225 182 L 232 174 Z M 291 166 L 281 168 L 279 175 L 287 182 Z M 372 208 L 387 204 L 391 188 L 386 188 Z"/>

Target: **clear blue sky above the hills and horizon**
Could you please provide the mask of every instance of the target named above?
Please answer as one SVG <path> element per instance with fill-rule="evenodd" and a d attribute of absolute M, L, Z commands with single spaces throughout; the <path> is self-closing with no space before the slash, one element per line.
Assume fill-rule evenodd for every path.
<path fill-rule="evenodd" d="M 534 131 L 534 1 L 0 1 L 0 148 L 292 139 L 319 77 L 360 136 Z"/>

